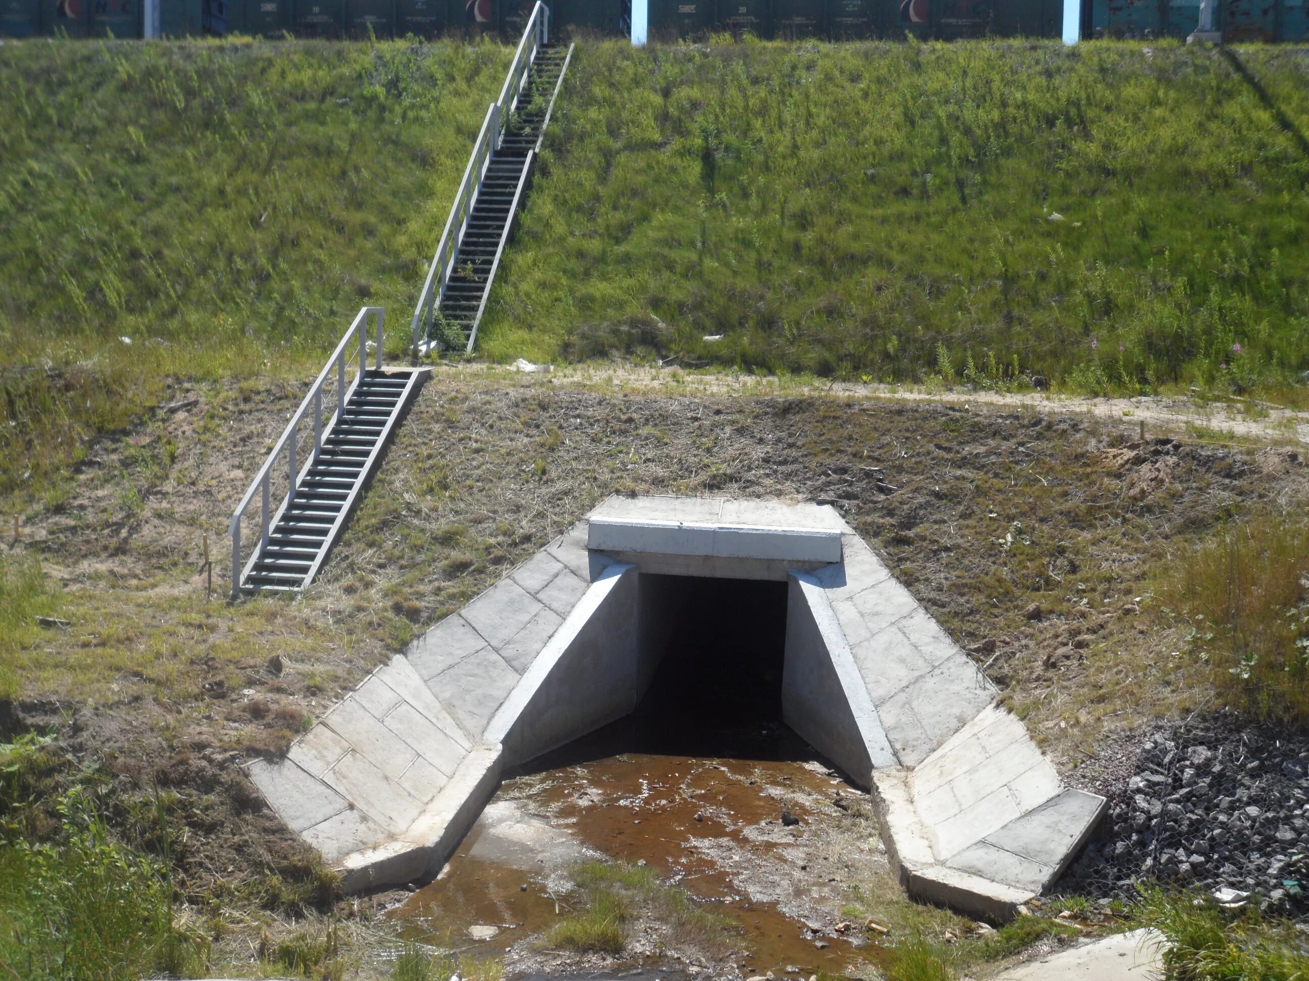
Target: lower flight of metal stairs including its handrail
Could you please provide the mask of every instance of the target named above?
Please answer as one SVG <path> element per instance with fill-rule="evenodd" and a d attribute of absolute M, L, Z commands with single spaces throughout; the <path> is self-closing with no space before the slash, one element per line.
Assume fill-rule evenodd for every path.
<path fill-rule="evenodd" d="M 359 311 L 233 513 L 233 596 L 301 590 L 313 582 L 427 378 L 428 369 L 382 368 L 385 314 L 372 306 Z M 369 317 L 377 323 L 372 341 Z M 376 349 L 372 368 L 369 345 Z M 259 536 L 242 562 L 242 523 L 257 497 Z"/>

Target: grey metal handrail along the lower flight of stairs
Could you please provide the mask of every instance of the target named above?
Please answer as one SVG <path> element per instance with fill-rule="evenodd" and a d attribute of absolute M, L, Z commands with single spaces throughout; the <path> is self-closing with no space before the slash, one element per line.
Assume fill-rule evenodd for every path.
<path fill-rule="evenodd" d="M 259 552 L 268 545 L 268 532 L 276 522 L 274 521 L 271 509 L 272 497 L 272 479 L 274 479 L 274 466 L 278 463 L 278 458 L 287 453 L 287 496 L 281 501 L 278 509 L 280 514 L 287 509 L 287 506 L 295 500 L 296 484 L 300 483 L 300 468 L 297 467 L 298 456 L 298 428 L 304 421 L 305 415 L 309 413 L 310 407 L 313 407 L 313 424 L 314 424 L 314 449 L 309 456 L 305 466 L 305 471 L 309 470 L 318 459 L 322 453 L 323 445 L 323 388 L 332 377 L 332 369 L 336 369 L 336 408 L 331 416 L 331 424 L 329 429 L 334 425 L 344 413 L 346 403 L 350 402 L 350 395 L 353 387 L 364 377 L 364 371 L 368 370 L 368 318 L 373 315 L 376 320 L 374 331 L 374 344 L 376 344 L 376 370 L 382 368 L 382 345 L 386 336 L 386 309 L 381 306 L 365 306 L 361 307 L 359 314 L 350 324 L 350 330 L 342 336 L 340 343 L 336 344 L 336 349 L 327 358 L 327 364 L 323 365 L 323 370 L 318 373 L 314 383 L 309 386 L 309 392 L 305 395 L 304 400 L 300 403 L 300 408 L 292 415 L 291 421 L 281 433 L 281 438 L 278 439 L 276 445 L 272 447 L 272 453 L 268 454 L 268 459 L 264 460 L 259 472 L 255 475 L 254 480 L 250 481 L 250 489 L 246 490 L 245 497 L 241 498 L 241 504 L 237 505 L 236 510 L 232 513 L 232 523 L 228 526 L 228 534 L 232 536 L 232 596 L 236 598 L 241 591 L 241 522 L 250 509 L 254 501 L 255 493 L 259 493 L 260 501 L 260 514 L 259 514 L 259 547 L 254 549 L 250 556 L 250 561 L 254 562 Z M 351 341 L 359 341 L 357 348 L 355 348 Z M 355 374 L 355 383 L 351 386 L 351 392 L 346 390 L 346 373 L 347 368 L 355 360 L 355 351 L 359 354 L 359 369 Z"/>

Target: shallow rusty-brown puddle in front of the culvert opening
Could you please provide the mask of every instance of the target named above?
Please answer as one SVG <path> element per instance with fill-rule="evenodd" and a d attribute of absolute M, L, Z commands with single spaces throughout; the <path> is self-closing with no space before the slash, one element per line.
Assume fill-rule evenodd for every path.
<path fill-rule="evenodd" d="M 806 977 L 818 971 L 844 973 L 863 959 L 857 948 L 823 929 L 826 923 L 806 923 L 781 909 L 808 905 L 806 862 L 787 853 L 804 850 L 813 798 L 830 799 L 833 782 L 800 763 L 653 755 L 613 756 L 518 777 L 505 782 L 497 799 L 521 806 L 551 831 L 567 831 L 590 854 L 569 853 L 550 841 L 543 859 L 487 861 L 479 854 L 496 855 L 505 849 L 504 842 L 488 848 L 488 837 L 496 837 L 504 824 L 484 827 L 479 821 L 441 878 L 415 893 L 397 916 L 411 920 L 418 935 L 432 942 L 480 955 L 503 954 L 529 935 L 547 933 L 567 916 L 577 901 L 565 891 L 568 870 L 579 861 L 603 855 L 644 861 L 670 884 L 709 900 L 712 909 L 737 921 L 741 935 L 736 946 L 746 954 L 733 961 L 742 971 L 783 974 L 798 968 Z M 846 787 L 843 781 L 835 782 Z M 784 827 L 783 808 L 800 823 Z M 719 848 L 719 842 L 728 846 Z M 562 865 L 552 866 L 552 858 Z M 759 859 L 779 869 L 761 870 Z M 530 865 L 537 867 L 525 867 Z M 759 889 L 750 888 L 755 883 L 738 882 L 742 866 L 754 866 L 747 876 L 762 876 L 763 891 L 784 893 L 784 903 L 753 900 Z M 788 866 L 791 875 L 781 871 Z M 475 926 L 495 926 L 499 933 L 479 942 L 469 933 Z M 857 923 L 853 926 L 857 933 Z M 827 946 L 819 948 L 816 940 Z"/>

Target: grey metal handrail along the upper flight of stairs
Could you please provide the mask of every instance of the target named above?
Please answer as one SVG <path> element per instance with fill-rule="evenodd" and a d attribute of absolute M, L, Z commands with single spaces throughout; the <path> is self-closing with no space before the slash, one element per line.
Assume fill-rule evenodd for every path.
<path fill-rule="evenodd" d="M 423 292 L 419 294 L 418 305 L 414 307 L 414 354 L 425 353 L 423 341 L 432 324 L 436 306 L 445 296 L 445 285 L 453 272 L 453 260 L 459 245 L 463 242 L 463 233 L 467 230 L 469 218 L 473 216 L 473 203 L 476 199 L 482 181 L 486 178 L 487 166 L 491 157 L 500 149 L 500 140 L 504 137 L 504 127 L 509 123 L 509 116 L 518 107 L 518 97 L 528 84 L 528 73 L 537 52 L 542 44 L 550 43 L 550 8 L 537 0 L 528 17 L 528 25 L 522 30 L 518 48 L 514 51 L 509 72 L 505 75 L 504 86 L 500 89 L 500 98 L 487 109 L 487 118 L 482 123 L 478 140 L 473 144 L 473 156 L 469 157 L 469 166 L 463 171 L 463 182 L 459 192 L 450 207 L 450 217 L 445 221 L 445 230 L 441 232 L 441 241 L 436 246 L 436 255 L 427 268 L 427 280 L 423 283 Z M 470 348 L 471 349 L 471 343 Z"/>

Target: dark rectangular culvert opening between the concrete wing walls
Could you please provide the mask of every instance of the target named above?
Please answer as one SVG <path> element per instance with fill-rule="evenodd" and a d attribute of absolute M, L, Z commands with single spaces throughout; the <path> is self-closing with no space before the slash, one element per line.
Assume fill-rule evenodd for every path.
<path fill-rule="evenodd" d="M 643 573 L 639 590 L 635 712 L 520 772 L 626 752 L 813 759 L 781 717 L 785 582 Z"/>

